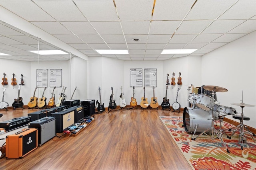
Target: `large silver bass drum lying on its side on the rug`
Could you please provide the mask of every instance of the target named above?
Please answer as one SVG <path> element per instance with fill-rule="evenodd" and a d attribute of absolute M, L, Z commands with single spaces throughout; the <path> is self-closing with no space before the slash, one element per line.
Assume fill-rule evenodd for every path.
<path fill-rule="evenodd" d="M 213 112 L 214 120 L 218 119 L 218 113 Z M 184 108 L 183 125 L 188 133 L 201 133 L 212 126 L 212 111 L 205 111 L 200 108 Z M 197 129 L 196 129 L 196 126 Z"/>

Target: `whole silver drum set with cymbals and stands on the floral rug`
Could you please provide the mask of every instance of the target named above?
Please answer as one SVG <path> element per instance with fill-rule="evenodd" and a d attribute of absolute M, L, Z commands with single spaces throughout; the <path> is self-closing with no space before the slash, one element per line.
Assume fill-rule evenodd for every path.
<path fill-rule="evenodd" d="M 192 94 L 190 95 L 190 88 L 192 87 Z M 201 90 L 201 93 L 200 91 Z M 204 90 L 204 92 L 202 91 Z M 226 144 L 222 139 L 222 135 L 224 131 L 222 130 L 222 120 L 226 115 L 236 115 L 236 109 L 233 107 L 222 106 L 217 101 L 216 92 L 227 92 L 226 88 L 222 88 L 219 86 L 202 86 L 201 88 L 196 88 L 194 86 L 189 86 L 188 88 L 188 106 L 185 107 L 183 111 L 183 125 L 184 129 L 188 133 L 193 133 L 192 140 L 196 140 L 196 138 L 205 134 L 212 134 L 211 138 L 214 139 L 215 136 L 219 138 L 226 148 L 227 152 L 230 153 Z M 198 94 L 199 92 L 199 94 Z M 241 106 L 241 104 L 234 104 L 236 106 Z M 248 106 L 248 105 L 246 105 Z M 253 105 L 251 105 L 253 106 Z M 241 106 L 242 107 L 242 106 Z M 243 112 L 243 107 L 242 107 Z M 242 113 L 243 115 L 243 113 Z M 214 121 L 220 120 L 220 129 L 217 130 L 214 127 Z M 240 136 L 242 139 L 241 145 L 243 145 L 244 140 L 244 125 L 243 119 L 242 123 L 236 127 L 240 129 Z M 248 128 L 247 128 L 248 129 Z M 250 132 L 250 131 L 249 131 Z M 194 138 L 195 133 L 200 133 L 197 137 Z M 234 135 L 234 133 L 232 133 Z M 231 136 L 232 136 L 231 135 Z M 253 138 L 252 133 L 250 135 Z M 231 137 L 230 136 L 230 137 Z M 228 135 L 227 135 L 228 137 Z M 230 139 L 230 137 L 228 137 Z M 253 138 L 254 139 L 254 138 Z M 254 139 L 255 141 L 255 139 Z M 256 142 L 256 141 L 255 141 Z M 241 147 L 242 149 L 242 147 Z"/>

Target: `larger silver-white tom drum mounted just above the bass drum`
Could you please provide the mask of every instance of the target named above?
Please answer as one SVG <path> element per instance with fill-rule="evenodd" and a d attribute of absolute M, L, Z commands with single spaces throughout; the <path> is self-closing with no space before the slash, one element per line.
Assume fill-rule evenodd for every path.
<path fill-rule="evenodd" d="M 214 100 L 214 102 L 215 102 L 215 100 Z M 198 94 L 196 96 L 196 106 L 205 111 L 212 110 L 212 106 L 213 106 L 214 102 L 212 102 L 212 97 L 208 96 L 206 94 Z"/>

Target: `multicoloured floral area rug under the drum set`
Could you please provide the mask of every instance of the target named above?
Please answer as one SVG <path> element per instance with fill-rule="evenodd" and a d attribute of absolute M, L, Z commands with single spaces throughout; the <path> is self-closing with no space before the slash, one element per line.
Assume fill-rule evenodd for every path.
<path fill-rule="evenodd" d="M 160 119 L 192 169 L 256 170 L 256 143 L 254 143 L 249 134 L 246 134 L 246 144 L 243 145 L 243 150 L 241 150 L 241 145 L 238 143 L 239 132 L 236 132 L 231 139 L 223 135 L 222 139 L 230 151 L 228 153 L 220 139 L 211 138 L 211 133 L 210 137 L 207 135 L 197 137 L 197 133 L 194 136 L 196 140 L 191 140 L 193 134 L 187 133 L 182 127 L 183 117 L 160 116 Z M 228 129 L 232 127 L 234 125 L 222 122 L 222 129 L 229 136 L 232 132 L 228 131 Z M 216 129 L 218 128 L 219 125 L 217 123 Z"/>

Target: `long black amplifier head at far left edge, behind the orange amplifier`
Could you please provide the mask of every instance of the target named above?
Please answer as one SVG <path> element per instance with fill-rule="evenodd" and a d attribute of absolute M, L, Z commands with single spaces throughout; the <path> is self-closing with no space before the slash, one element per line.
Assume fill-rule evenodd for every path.
<path fill-rule="evenodd" d="M 5 131 L 10 131 L 12 129 L 16 129 L 17 127 L 27 125 L 30 121 L 31 121 L 30 116 L 17 117 L 11 120 L 0 122 L 0 127 L 4 128 Z"/>

